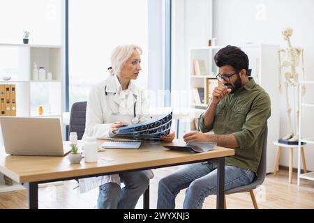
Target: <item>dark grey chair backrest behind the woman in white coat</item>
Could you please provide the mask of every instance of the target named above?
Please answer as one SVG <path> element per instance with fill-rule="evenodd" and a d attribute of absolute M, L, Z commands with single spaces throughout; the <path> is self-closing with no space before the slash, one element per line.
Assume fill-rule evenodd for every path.
<path fill-rule="evenodd" d="M 75 102 L 70 112 L 68 132 L 77 132 L 78 140 L 82 139 L 85 131 L 86 107 L 87 102 Z"/>

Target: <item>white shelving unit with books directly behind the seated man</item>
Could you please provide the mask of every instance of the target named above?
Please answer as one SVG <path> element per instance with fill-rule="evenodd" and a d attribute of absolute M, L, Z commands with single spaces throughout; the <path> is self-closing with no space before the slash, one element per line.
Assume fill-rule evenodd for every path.
<path fill-rule="evenodd" d="M 209 79 L 216 79 L 218 68 L 214 61 L 214 56 L 219 49 L 225 46 L 215 47 L 194 47 L 190 48 L 189 82 L 190 89 L 189 105 L 193 108 L 206 109 L 209 102 Z M 279 80 L 278 80 L 278 45 L 243 45 L 239 46 L 249 59 L 249 69 L 251 77 L 257 84 L 269 93 L 271 98 L 271 117 L 268 120 L 268 142 L 267 142 L 267 173 L 273 171 L 276 148 L 273 141 L 279 139 Z M 206 75 L 193 75 L 193 60 L 203 60 L 207 70 Z M 195 103 L 193 89 L 195 87 L 204 88 L 205 103 Z"/>

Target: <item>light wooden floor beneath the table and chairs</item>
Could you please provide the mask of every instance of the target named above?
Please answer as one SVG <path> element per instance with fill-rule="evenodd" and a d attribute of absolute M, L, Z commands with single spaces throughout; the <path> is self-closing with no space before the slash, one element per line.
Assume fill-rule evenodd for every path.
<path fill-rule="evenodd" d="M 150 207 L 156 208 L 158 180 L 178 167 L 154 170 L 155 178 L 150 185 Z M 48 185 L 39 189 L 39 208 L 94 208 L 98 189 L 80 194 L 75 180 L 64 181 L 61 185 Z M 267 175 L 264 184 L 254 190 L 259 208 L 314 208 L 314 182 L 301 179 L 297 187 L 297 174 L 294 173 L 292 184 L 288 183 L 288 171 L 278 171 L 277 176 Z M 176 208 L 182 208 L 184 191 L 176 200 Z M 249 193 L 230 194 L 226 196 L 227 208 L 253 208 Z M 27 208 L 27 192 L 0 193 L 0 208 Z M 136 208 L 142 208 L 142 197 Z M 216 196 L 209 196 L 203 208 L 216 208 Z"/>

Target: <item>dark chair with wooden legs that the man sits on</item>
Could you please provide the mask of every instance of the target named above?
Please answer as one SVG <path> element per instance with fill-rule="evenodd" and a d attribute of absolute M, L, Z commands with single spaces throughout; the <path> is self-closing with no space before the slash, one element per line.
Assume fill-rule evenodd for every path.
<path fill-rule="evenodd" d="M 234 187 L 230 190 L 225 191 L 226 194 L 235 194 L 235 193 L 241 193 L 241 192 L 250 192 L 251 199 L 253 202 L 253 206 L 255 209 L 258 209 L 255 195 L 253 190 L 257 188 L 259 185 L 262 185 L 264 182 L 265 176 L 266 176 L 266 151 L 267 151 L 267 134 L 268 134 L 268 128 L 266 125 L 265 134 L 264 134 L 264 140 L 263 140 L 263 147 L 262 147 L 262 156 L 260 157 L 260 164 L 257 168 L 257 177 L 253 180 L 252 183 L 248 185 L 244 185 L 241 187 Z M 227 208 L 227 204 L 224 197 L 224 208 Z"/>

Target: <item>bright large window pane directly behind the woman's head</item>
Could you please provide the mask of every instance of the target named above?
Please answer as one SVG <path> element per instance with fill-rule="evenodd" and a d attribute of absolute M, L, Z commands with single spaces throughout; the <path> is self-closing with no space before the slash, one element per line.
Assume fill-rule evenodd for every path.
<path fill-rule="evenodd" d="M 89 89 L 107 78 L 112 49 L 136 44 L 143 49 L 136 83 L 147 89 L 148 1 L 69 1 L 69 100 L 88 99 Z"/>

